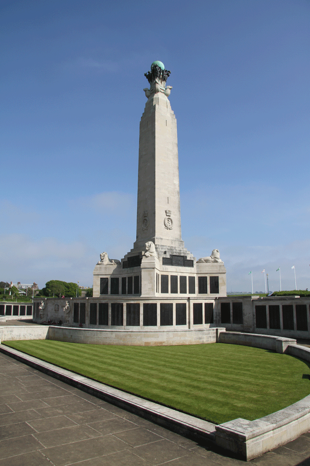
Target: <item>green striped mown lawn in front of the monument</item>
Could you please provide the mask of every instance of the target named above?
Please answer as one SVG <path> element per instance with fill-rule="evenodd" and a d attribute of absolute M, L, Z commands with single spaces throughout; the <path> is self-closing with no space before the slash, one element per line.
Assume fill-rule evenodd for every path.
<path fill-rule="evenodd" d="M 3 344 L 216 424 L 257 419 L 310 393 L 310 369 L 259 348 L 208 345 L 128 347 L 52 340 Z"/>

